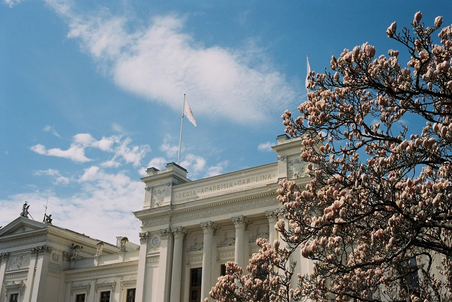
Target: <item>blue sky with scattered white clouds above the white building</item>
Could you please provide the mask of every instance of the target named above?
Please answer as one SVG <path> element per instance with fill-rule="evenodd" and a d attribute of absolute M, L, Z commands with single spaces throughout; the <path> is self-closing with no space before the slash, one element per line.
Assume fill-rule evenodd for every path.
<path fill-rule="evenodd" d="M 276 161 L 280 116 L 306 98 L 306 55 L 386 36 L 414 13 L 452 23 L 448 1 L 37 1 L 0 5 L 0 225 L 28 201 L 41 220 L 137 242 L 147 167 L 192 180 Z M 407 61 L 408 59 L 406 59 Z M 403 61 L 402 61 L 403 62 Z"/>

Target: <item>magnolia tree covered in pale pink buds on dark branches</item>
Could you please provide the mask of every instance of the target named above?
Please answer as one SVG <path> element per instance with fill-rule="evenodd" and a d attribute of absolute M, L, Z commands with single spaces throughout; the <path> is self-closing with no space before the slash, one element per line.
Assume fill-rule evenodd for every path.
<path fill-rule="evenodd" d="M 421 18 L 386 31 L 407 67 L 399 51 L 375 57 L 365 43 L 309 75 L 301 116 L 282 119 L 303 137 L 311 182 L 280 182 L 284 242 L 258 239 L 248 273 L 228 263 L 211 297 L 452 301 L 452 28 Z M 296 249 L 312 273 L 293 275 Z"/>

